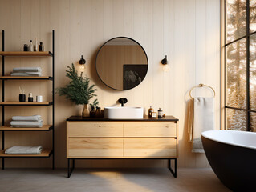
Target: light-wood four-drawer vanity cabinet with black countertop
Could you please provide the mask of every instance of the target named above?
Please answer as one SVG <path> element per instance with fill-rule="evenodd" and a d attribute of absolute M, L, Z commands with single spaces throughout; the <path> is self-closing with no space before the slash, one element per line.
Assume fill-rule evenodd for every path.
<path fill-rule="evenodd" d="M 176 164 L 177 122 L 173 116 L 132 120 L 72 116 L 67 119 L 67 159 L 163 158 Z"/>

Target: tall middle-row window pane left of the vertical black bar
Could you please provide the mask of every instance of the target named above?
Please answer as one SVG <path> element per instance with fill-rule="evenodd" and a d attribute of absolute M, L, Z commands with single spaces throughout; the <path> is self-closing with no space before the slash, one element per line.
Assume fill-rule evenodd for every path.
<path fill-rule="evenodd" d="M 226 106 L 246 109 L 246 38 L 226 46 Z"/>

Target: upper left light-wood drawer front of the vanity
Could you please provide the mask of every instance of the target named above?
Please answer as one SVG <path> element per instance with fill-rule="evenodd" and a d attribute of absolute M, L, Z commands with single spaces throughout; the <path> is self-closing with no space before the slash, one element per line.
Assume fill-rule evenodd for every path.
<path fill-rule="evenodd" d="M 67 137 L 123 137 L 123 123 L 67 122 Z"/>

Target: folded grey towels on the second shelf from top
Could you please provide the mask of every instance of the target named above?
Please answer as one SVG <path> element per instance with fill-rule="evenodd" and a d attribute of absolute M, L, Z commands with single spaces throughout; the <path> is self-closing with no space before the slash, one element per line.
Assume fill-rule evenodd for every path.
<path fill-rule="evenodd" d="M 41 67 L 17 67 L 13 69 L 13 72 L 10 74 L 11 76 L 42 76 Z"/>

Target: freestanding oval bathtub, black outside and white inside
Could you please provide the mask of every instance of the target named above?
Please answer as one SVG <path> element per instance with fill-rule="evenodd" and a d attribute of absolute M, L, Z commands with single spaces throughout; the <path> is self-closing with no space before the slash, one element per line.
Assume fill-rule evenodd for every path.
<path fill-rule="evenodd" d="M 256 133 L 209 130 L 201 140 L 210 166 L 225 186 L 256 191 Z"/>

